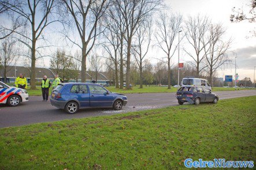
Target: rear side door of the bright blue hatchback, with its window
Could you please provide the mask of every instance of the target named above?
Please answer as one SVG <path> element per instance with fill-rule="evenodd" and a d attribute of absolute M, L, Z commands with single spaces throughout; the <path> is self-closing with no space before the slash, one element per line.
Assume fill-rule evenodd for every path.
<path fill-rule="evenodd" d="M 79 101 L 80 107 L 90 107 L 90 94 L 87 85 L 73 85 L 70 93 L 72 99 Z"/>

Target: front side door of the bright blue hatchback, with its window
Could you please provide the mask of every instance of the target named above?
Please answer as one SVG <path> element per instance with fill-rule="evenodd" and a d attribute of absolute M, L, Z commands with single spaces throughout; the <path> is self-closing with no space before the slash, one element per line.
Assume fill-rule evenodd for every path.
<path fill-rule="evenodd" d="M 91 107 L 112 107 L 114 97 L 109 95 L 105 88 L 99 85 L 88 85 L 88 88 Z"/>

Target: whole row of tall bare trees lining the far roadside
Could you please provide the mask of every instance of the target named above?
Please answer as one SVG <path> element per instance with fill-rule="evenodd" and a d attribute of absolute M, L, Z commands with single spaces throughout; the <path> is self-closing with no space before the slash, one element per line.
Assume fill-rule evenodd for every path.
<path fill-rule="evenodd" d="M 183 50 L 197 76 L 202 71 L 209 71 L 211 82 L 214 72 L 229 62 L 226 51 L 231 40 L 225 41 L 225 29 L 220 24 L 213 24 L 209 18 L 200 15 L 183 21 L 180 14 L 169 13 L 162 0 L 11 0 L 0 1 L 0 14 L 12 18 L 13 25 L 1 25 L 1 39 L 11 37 L 28 48 L 29 52 L 21 55 L 31 61 L 32 89 L 36 88 L 38 59 L 51 56 L 51 67 L 57 65 L 58 60 L 46 52 L 53 47 L 46 32 L 54 23 L 60 26 L 57 32 L 72 43 L 72 47 L 79 49 L 81 58 L 75 61 L 80 63 L 82 82 L 86 81 L 88 57 L 91 67 L 97 71 L 102 68 L 99 61 L 105 58 L 106 68 L 114 73 L 116 88 L 123 89 L 125 80 L 125 88 L 129 89 L 131 62 L 134 60 L 134 67 L 139 70 L 140 88 L 143 88 L 143 72 L 152 67 L 149 51 L 157 47 L 165 54 L 162 58 L 155 58 L 168 66 L 170 88 L 172 58 L 180 43 L 177 36 L 181 30 L 184 33 L 180 40 L 186 39 L 183 40 L 186 42 Z M 102 51 L 101 58 L 94 52 L 99 50 Z M 71 61 L 65 57 L 62 59 Z"/>

